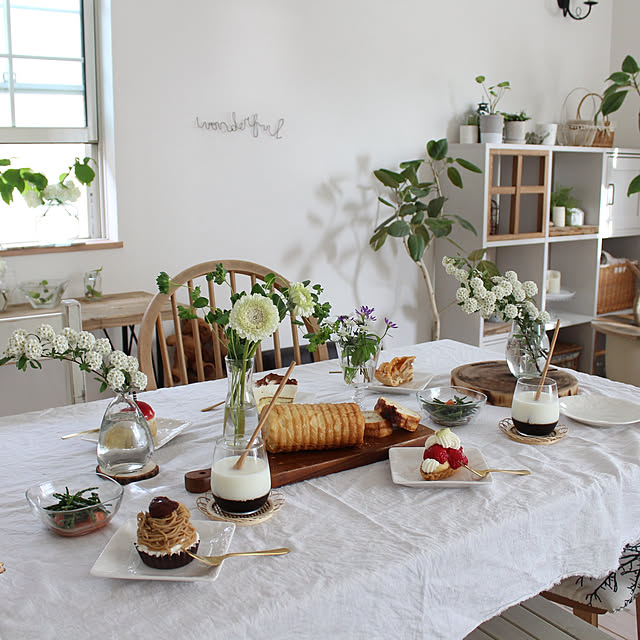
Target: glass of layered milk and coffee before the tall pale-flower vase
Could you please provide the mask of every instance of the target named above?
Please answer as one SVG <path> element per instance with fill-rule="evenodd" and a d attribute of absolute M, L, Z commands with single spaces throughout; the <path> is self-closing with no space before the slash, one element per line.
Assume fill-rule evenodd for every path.
<path fill-rule="evenodd" d="M 234 465 L 247 448 L 251 435 L 220 436 L 213 450 L 211 493 L 225 513 L 246 515 L 264 506 L 271 492 L 269 458 L 260 436 L 253 441 L 240 469 Z"/>

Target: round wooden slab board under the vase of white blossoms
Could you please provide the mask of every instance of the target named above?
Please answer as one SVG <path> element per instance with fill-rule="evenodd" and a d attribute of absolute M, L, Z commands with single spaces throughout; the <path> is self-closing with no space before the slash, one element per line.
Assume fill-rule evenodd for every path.
<path fill-rule="evenodd" d="M 578 393 L 578 380 L 567 371 L 550 369 L 547 374 L 558 384 L 558 395 L 574 396 Z M 516 379 L 511 375 L 505 360 L 472 362 L 456 367 L 451 372 L 451 384 L 482 391 L 487 402 L 497 407 L 510 407 Z"/>

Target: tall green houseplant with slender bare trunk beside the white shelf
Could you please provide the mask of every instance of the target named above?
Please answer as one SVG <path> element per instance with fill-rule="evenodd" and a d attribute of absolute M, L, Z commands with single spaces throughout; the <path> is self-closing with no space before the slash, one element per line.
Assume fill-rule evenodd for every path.
<path fill-rule="evenodd" d="M 374 229 L 369 244 L 374 251 L 379 251 L 389 237 L 402 241 L 409 257 L 420 269 L 427 288 L 427 298 L 433 314 L 434 340 L 440 338 L 440 314 L 431 275 L 424 262 L 424 252 L 437 238 L 447 238 L 453 242 L 448 236 L 455 224 L 460 224 L 477 235 L 474 226 L 465 218 L 457 214 L 445 214 L 444 204 L 447 198 L 443 195 L 441 181 L 446 175 L 454 187 L 463 188 L 462 176 L 456 165 L 467 171 L 482 173 L 475 164 L 464 158 L 452 158 L 448 153 L 449 143 L 446 138 L 430 140 L 427 143 L 427 158 L 401 162 L 400 171 L 374 171 L 375 177 L 391 191 L 392 202 L 382 196 L 378 200 L 390 207 L 393 213 Z M 430 172 L 427 181 L 418 176 L 419 169 L 425 163 Z"/>

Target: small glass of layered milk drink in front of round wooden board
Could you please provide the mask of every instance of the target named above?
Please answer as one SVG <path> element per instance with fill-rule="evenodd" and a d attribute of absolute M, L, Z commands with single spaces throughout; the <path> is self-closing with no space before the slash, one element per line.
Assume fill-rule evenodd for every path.
<path fill-rule="evenodd" d="M 513 393 L 511 417 L 516 429 L 525 436 L 548 436 L 560 418 L 556 381 L 547 376 L 536 400 L 540 380 L 540 376 L 518 378 Z"/>

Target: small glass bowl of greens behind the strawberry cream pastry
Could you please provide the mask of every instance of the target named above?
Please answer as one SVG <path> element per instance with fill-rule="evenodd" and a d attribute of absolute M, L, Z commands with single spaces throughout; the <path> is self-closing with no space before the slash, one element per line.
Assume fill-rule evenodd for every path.
<path fill-rule="evenodd" d="M 487 396 L 465 387 L 433 387 L 416 393 L 432 422 L 444 427 L 467 424 L 484 406 Z"/>

